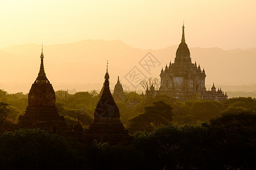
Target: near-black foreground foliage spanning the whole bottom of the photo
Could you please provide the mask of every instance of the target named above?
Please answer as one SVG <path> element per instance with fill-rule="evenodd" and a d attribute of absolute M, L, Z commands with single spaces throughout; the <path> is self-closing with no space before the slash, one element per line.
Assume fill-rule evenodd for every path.
<path fill-rule="evenodd" d="M 5 132 L 1 169 L 255 169 L 256 114 L 225 113 L 209 123 L 137 131 L 129 146 L 98 143 L 82 152 L 75 138 L 40 129 Z"/>

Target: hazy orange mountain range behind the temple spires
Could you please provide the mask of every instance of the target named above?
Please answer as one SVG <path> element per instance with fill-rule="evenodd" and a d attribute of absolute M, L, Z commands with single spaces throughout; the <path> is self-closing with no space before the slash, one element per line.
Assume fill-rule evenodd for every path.
<path fill-rule="evenodd" d="M 189 47 L 189 41 L 187 42 Z M 133 48 L 121 40 L 84 40 L 69 44 L 45 45 L 44 68 L 47 78 L 55 90 L 77 91 L 100 90 L 109 61 L 110 87 L 117 82 L 117 76 L 126 90 L 135 90 L 126 78 L 131 69 L 137 67 L 147 78 L 159 78 L 160 70 L 174 62 L 177 45 L 164 49 Z M 228 91 L 229 87 L 256 84 L 256 48 L 223 50 L 220 48 L 190 48 L 192 62 L 200 64 L 207 74 L 207 88 L 214 82 L 217 87 Z M 151 67 L 148 73 L 139 61 L 150 52 L 160 64 Z M 40 65 L 41 45 L 24 44 L 0 49 L 0 88 L 8 92 L 27 93 L 34 82 Z M 128 78 L 129 79 L 129 78 Z M 221 84 L 221 85 L 220 85 Z M 137 90 L 141 87 L 137 87 Z"/>

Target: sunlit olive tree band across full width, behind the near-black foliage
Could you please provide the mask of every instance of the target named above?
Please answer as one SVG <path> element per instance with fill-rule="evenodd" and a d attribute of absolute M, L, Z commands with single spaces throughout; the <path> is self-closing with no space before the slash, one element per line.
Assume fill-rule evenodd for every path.
<path fill-rule="evenodd" d="M 120 120 L 129 129 L 130 133 L 138 130 L 152 131 L 155 127 L 173 122 L 176 125 L 195 125 L 209 122 L 222 113 L 247 111 L 256 112 L 256 99 L 251 97 L 236 97 L 222 102 L 207 100 L 190 100 L 180 102 L 169 96 L 159 95 L 157 99 L 148 103 L 147 100 L 135 92 L 125 92 L 126 98 L 122 103 L 117 102 L 120 111 Z M 0 90 L 0 102 L 9 104 L 7 118 L 11 122 L 18 122 L 19 115 L 23 115 L 27 107 L 27 96 L 22 92 L 8 94 Z M 88 128 L 93 121 L 94 109 L 100 95 L 96 91 L 77 92 L 56 91 L 56 107 L 65 121 L 75 125 L 81 112 L 84 112 L 86 121 L 84 128 Z M 196 99 L 196 97 L 195 97 Z M 163 101 L 164 104 L 158 103 Z M 155 103 L 154 103 L 155 102 Z M 134 105 L 134 107 L 131 107 Z M 171 108 L 169 108 L 171 107 Z M 81 111 L 83 109 L 83 111 Z M 1 116 L 2 115 L 2 116 Z M 157 116 L 156 116 L 157 115 Z M 0 125 L 4 116 L 0 113 Z"/>

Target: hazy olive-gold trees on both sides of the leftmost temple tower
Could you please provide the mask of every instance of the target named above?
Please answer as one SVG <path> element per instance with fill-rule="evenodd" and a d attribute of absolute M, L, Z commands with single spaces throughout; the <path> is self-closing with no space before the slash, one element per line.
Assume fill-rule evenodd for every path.
<path fill-rule="evenodd" d="M 9 104 L 7 111 L 8 121 L 18 122 L 18 117 L 26 111 L 27 97 L 28 94 L 24 95 L 22 92 L 8 94 L 6 91 L 0 90 L 0 102 Z M 93 113 L 99 97 L 96 91 L 77 92 L 72 95 L 68 94 L 68 91 L 60 90 L 56 91 L 56 107 L 59 114 L 65 117 L 65 121 L 72 125 L 77 123 L 81 109 L 84 108 L 84 114 L 88 120 L 88 124 L 85 126 L 88 126 L 93 121 Z M 4 115 L 4 113 L 0 112 L 0 126 L 4 121 Z"/>

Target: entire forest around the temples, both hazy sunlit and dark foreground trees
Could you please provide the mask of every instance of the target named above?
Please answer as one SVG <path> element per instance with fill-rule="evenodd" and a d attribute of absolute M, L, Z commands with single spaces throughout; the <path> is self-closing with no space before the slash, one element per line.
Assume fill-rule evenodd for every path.
<path fill-rule="evenodd" d="M 40 129 L 6 131 L 0 138 L 1 169 L 255 169 L 256 99 L 235 97 L 221 102 L 168 96 L 151 100 L 125 92 L 118 103 L 120 120 L 133 143 L 94 144 L 83 152 L 75 138 Z M 0 125 L 17 123 L 27 94 L 0 90 Z M 68 124 L 84 112 L 88 128 L 100 99 L 97 91 L 56 91 L 56 107 Z M 131 107 L 131 103 L 136 103 Z"/>

